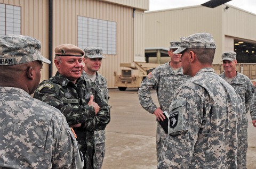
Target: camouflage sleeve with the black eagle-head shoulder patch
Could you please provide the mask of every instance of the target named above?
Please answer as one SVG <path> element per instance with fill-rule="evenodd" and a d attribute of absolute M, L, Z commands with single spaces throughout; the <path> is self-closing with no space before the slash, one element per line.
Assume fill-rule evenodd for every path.
<path fill-rule="evenodd" d="M 157 168 L 189 168 L 193 158 L 205 103 L 193 89 L 184 87 L 177 95 L 170 105 L 169 134 L 162 148 L 164 153 L 159 156 Z"/>

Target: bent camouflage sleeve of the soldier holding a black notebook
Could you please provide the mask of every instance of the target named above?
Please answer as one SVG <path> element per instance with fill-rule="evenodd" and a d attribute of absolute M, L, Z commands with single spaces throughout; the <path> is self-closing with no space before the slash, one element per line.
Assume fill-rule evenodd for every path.
<path fill-rule="evenodd" d="M 150 89 L 156 88 L 158 84 L 156 69 L 150 72 L 147 77 L 142 81 L 138 96 L 141 106 L 149 113 L 153 114 L 157 109 L 156 104 L 150 95 Z"/>

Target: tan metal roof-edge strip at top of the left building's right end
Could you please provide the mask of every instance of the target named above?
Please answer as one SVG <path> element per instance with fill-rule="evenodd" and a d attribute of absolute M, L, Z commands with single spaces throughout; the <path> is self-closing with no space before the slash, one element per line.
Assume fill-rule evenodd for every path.
<path fill-rule="evenodd" d="M 144 11 L 149 10 L 149 0 L 128 0 L 128 1 L 127 0 L 101 0 L 101 1 L 122 4 L 125 6 L 138 8 Z"/>

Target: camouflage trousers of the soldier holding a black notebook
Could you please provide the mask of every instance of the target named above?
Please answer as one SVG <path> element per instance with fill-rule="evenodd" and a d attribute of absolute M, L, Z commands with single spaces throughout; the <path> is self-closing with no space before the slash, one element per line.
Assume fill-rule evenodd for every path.
<path fill-rule="evenodd" d="M 156 156 L 157 156 L 157 160 L 159 159 L 159 156 L 161 154 L 161 150 L 164 146 L 164 141 L 165 141 L 166 137 L 167 137 L 167 134 L 165 133 L 164 129 L 157 121 L 157 126 L 156 126 Z"/>

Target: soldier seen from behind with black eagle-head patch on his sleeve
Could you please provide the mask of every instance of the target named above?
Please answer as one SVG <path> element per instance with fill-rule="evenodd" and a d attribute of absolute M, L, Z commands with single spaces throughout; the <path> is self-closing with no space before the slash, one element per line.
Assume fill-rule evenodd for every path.
<path fill-rule="evenodd" d="M 157 168 L 237 168 L 242 99 L 211 68 L 209 33 L 181 38 L 183 73 L 190 75 L 169 108 L 169 129 Z"/>

